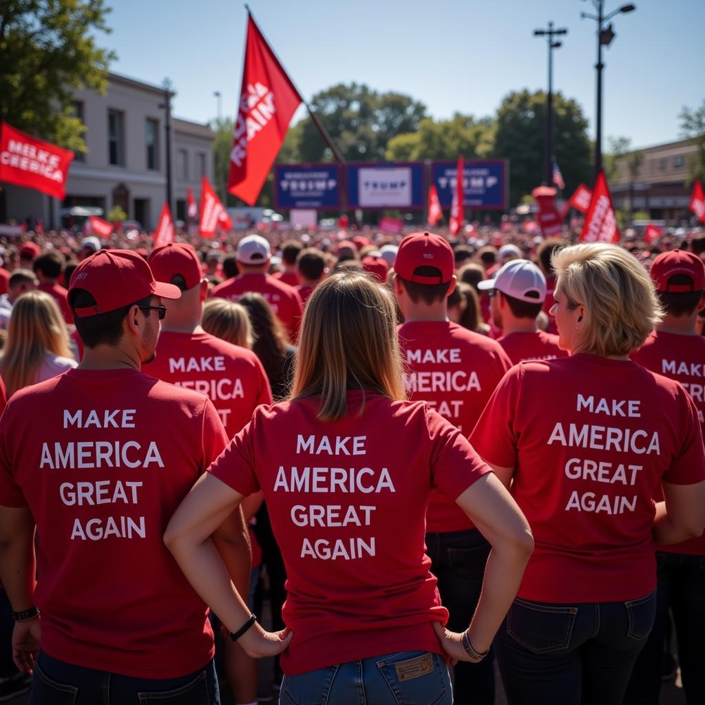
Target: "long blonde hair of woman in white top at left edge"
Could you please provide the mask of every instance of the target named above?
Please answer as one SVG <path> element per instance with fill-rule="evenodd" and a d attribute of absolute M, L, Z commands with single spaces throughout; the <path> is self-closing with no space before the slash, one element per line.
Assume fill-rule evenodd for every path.
<path fill-rule="evenodd" d="M 73 357 L 68 330 L 54 298 L 43 291 L 27 291 L 13 306 L 0 359 L 8 398 L 18 389 L 35 384 L 47 354 Z"/>

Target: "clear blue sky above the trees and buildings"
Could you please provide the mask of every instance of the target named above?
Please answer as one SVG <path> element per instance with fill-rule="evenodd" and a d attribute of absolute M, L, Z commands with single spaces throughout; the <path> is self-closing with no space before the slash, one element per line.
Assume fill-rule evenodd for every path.
<path fill-rule="evenodd" d="M 176 87 L 174 114 L 234 115 L 247 14 L 231 0 L 113 0 L 113 71 Z M 608 0 L 612 11 L 623 4 Z M 705 99 L 705 1 L 635 0 L 604 51 L 603 135 L 635 147 L 678 138 L 678 113 Z M 594 135 L 596 23 L 591 0 L 250 0 L 265 37 L 309 99 L 338 82 L 410 94 L 434 118 L 494 114 L 511 90 L 545 89 L 548 20 L 567 27 L 554 90 L 582 106 Z M 299 116 L 299 115 L 298 115 Z M 297 118 L 298 118 L 297 116 Z M 606 148 L 606 144 L 604 145 Z"/>

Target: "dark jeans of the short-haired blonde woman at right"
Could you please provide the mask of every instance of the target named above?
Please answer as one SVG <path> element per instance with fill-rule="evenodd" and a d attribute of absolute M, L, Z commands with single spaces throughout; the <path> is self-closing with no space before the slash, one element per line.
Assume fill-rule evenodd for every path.
<path fill-rule="evenodd" d="M 656 614 L 656 591 L 625 602 L 517 597 L 495 646 L 510 705 L 621 705 Z"/>

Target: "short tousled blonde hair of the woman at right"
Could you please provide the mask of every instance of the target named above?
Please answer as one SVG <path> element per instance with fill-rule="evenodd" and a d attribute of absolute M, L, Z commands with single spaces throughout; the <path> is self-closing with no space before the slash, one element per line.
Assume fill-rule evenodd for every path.
<path fill-rule="evenodd" d="M 566 305 L 584 305 L 584 321 L 573 353 L 629 355 L 654 330 L 663 311 L 654 284 L 637 258 L 607 243 L 556 250 L 551 265 L 556 290 Z"/>

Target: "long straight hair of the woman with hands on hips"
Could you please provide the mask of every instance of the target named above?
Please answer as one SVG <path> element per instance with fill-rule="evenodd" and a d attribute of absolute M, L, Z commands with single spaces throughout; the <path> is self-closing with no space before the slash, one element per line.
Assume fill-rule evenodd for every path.
<path fill-rule="evenodd" d="M 348 389 L 405 399 L 402 369 L 387 288 L 368 274 L 341 271 L 314 289 L 301 324 L 291 398 L 320 397 L 317 417 L 335 421 L 348 412 Z"/>

